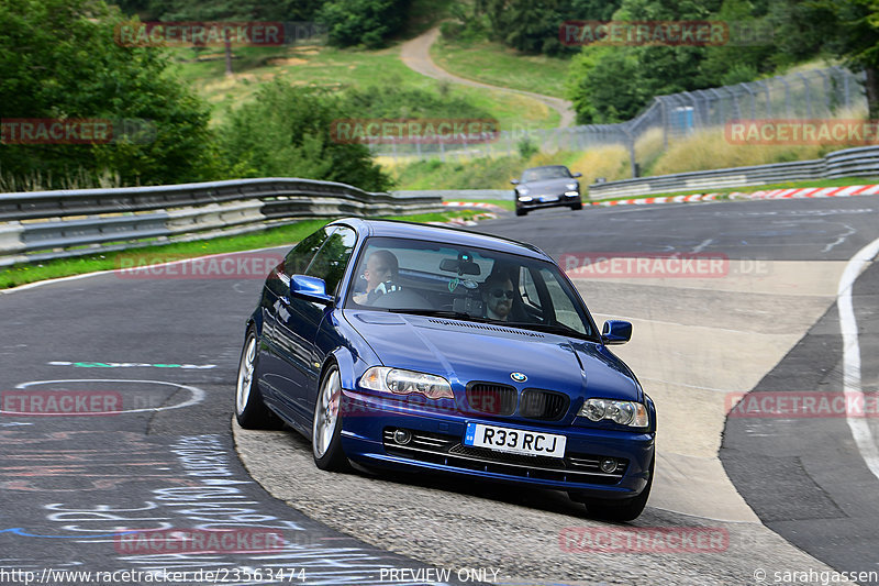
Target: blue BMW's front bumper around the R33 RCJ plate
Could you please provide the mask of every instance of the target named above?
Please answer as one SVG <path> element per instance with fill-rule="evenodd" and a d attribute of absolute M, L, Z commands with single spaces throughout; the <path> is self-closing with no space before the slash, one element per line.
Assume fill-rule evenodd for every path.
<path fill-rule="evenodd" d="M 392 407 L 389 407 L 392 406 Z M 572 490 L 586 497 L 621 499 L 647 485 L 655 433 L 547 425 L 539 421 L 480 418 L 460 412 L 426 411 L 404 401 L 389 401 L 353 390 L 341 398 L 345 454 L 367 466 L 399 471 L 450 473 L 486 480 Z M 468 422 L 518 428 L 566 436 L 564 458 L 527 456 L 463 445 Z M 400 445 L 396 430 L 411 440 Z M 615 458 L 621 469 L 607 474 L 600 461 Z"/>

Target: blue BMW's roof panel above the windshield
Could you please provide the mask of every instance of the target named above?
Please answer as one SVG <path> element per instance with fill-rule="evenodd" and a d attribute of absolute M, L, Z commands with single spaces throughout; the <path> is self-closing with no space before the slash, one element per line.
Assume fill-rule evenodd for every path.
<path fill-rule="evenodd" d="M 400 220 L 369 220 L 364 218 L 345 218 L 335 223 L 345 223 L 367 236 L 388 236 L 412 240 L 442 242 L 458 246 L 472 246 L 491 251 L 519 254 L 534 258 L 553 259 L 533 244 L 519 242 L 501 236 L 490 236 L 469 230 L 444 225 L 416 224 Z"/>

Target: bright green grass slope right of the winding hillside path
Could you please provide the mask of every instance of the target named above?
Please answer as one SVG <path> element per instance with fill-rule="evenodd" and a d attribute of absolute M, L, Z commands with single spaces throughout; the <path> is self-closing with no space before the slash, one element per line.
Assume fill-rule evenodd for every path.
<path fill-rule="evenodd" d="M 570 64 L 558 57 L 523 55 L 500 43 L 458 43 L 442 37 L 431 47 L 431 58 L 459 77 L 555 98 L 565 97 Z"/>

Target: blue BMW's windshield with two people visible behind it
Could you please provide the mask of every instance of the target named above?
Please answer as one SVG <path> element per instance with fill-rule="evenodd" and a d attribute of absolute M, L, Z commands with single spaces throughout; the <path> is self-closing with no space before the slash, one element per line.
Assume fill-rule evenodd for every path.
<path fill-rule="evenodd" d="M 346 307 L 597 338 L 579 296 L 553 263 L 435 242 L 367 240 Z"/>

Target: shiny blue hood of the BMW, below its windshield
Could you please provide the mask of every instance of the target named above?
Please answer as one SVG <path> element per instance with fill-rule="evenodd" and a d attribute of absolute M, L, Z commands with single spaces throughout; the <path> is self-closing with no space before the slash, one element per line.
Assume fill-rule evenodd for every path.
<path fill-rule="evenodd" d="M 385 366 L 566 392 L 643 400 L 631 371 L 603 346 L 531 330 L 380 311 L 346 311 Z M 527 380 L 515 383 L 512 373 Z"/>

